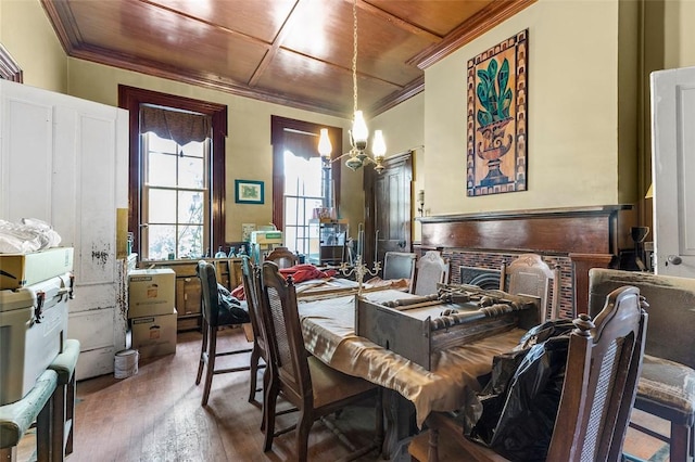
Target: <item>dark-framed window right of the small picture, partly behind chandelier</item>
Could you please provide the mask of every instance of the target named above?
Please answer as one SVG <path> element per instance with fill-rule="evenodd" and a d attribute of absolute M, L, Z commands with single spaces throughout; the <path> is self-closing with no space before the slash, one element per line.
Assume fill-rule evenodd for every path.
<path fill-rule="evenodd" d="M 271 117 L 273 222 L 291 251 L 308 252 L 308 220 L 332 195 L 340 205 L 340 163 L 321 168 L 318 134 L 328 128 L 333 157 L 342 153 L 342 129 L 279 116 Z"/>

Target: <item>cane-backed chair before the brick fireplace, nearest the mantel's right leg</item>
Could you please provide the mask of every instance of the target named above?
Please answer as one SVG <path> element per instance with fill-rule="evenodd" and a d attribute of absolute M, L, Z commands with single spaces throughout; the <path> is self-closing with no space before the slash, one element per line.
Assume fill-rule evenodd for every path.
<path fill-rule="evenodd" d="M 539 321 L 557 319 L 560 304 L 560 267 L 553 270 L 536 254 L 519 255 L 510 265 L 502 264 L 500 290 L 511 295 L 541 298 Z"/>

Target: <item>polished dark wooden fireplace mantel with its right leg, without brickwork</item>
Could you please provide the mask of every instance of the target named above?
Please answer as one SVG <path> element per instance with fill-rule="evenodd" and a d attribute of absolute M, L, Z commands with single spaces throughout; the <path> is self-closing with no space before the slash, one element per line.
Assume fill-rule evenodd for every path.
<path fill-rule="evenodd" d="M 574 306 L 585 312 L 589 269 L 608 268 L 631 248 L 631 205 L 547 208 L 416 218 L 425 248 L 532 252 L 572 260 Z"/>

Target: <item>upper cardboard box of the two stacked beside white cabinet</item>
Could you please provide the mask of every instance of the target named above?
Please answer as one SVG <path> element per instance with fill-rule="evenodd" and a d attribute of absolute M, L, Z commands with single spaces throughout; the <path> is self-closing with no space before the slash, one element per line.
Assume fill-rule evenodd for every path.
<path fill-rule="evenodd" d="M 128 274 L 128 318 L 168 315 L 176 305 L 176 273 L 170 268 Z"/>

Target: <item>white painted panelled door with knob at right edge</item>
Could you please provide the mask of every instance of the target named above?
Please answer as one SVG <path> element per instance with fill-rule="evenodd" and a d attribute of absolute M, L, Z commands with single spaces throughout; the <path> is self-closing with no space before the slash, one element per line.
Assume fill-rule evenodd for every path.
<path fill-rule="evenodd" d="M 656 272 L 695 278 L 695 67 L 652 74 L 652 161 Z"/>

